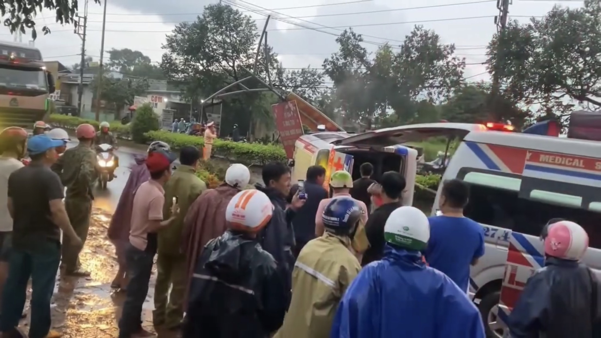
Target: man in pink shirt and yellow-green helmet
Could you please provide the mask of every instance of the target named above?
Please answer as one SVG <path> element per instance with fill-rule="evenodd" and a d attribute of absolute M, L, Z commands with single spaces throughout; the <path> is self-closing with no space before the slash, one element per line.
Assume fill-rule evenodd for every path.
<path fill-rule="evenodd" d="M 335 197 L 348 196 L 350 197 L 350 188 L 353 188 L 353 177 L 350 176 L 348 171 L 338 170 L 332 174 L 330 179 L 330 186 L 332 187 L 332 198 L 325 198 L 319 203 L 317 207 L 317 214 L 315 215 L 315 236 L 320 237 L 323 235 L 325 227 L 323 226 L 323 210 L 328 206 L 330 201 Z M 355 200 L 355 198 L 353 198 Z M 357 256 L 361 257 L 361 254 L 367 250 L 369 243 L 365 236 L 365 223 L 367 223 L 367 206 L 365 203 L 359 200 L 355 200 L 356 203 L 361 207 L 361 219 L 359 221 L 359 228 L 353 238 L 352 247 L 355 250 Z"/>

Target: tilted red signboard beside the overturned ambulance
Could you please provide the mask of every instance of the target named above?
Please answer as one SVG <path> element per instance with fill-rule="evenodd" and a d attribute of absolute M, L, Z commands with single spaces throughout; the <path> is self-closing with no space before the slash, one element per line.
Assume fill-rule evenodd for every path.
<path fill-rule="evenodd" d="M 275 126 L 279 132 L 279 140 L 284 146 L 286 156 L 293 158 L 294 143 L 304 134 L 296 101 L 281 102 L 272 105 L 271 109 L 275 117 Z"/>

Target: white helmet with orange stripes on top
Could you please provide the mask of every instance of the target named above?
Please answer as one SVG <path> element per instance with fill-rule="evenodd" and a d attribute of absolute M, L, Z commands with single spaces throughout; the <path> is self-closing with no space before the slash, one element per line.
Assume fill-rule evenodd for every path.
<path fill-rule="evenodd" d="M 271 220 L 273 204 L 269 197 L 256 189 L 238 192 L 225 209 L 225 220 L 231 229 L 258 232 Z"/>

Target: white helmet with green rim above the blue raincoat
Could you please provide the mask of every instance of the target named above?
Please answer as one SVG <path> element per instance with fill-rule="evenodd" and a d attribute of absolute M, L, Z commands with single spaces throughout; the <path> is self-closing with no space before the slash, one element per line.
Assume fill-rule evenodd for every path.
<path fill-rule="evenodd" d="M 424 250 L 430 239 L 430 222 L 416 207 L 401 206 L 386 220 L 384 239 L 407 250 Z"/>

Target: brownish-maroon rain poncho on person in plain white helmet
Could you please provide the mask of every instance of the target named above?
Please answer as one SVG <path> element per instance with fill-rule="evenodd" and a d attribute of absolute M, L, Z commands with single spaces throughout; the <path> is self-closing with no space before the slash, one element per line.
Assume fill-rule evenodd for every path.
<path fill-rule="evenodd" d="M 184 219 L 182 233 L 183 251 L 186 253 L 186 296 L 184 307 L 188 306 L 188 287 L 197 257 L 211 239 L 217 238 L 227 230 L 225 208 L 240 190 L 227 184 L 203 192 L 188 209 Z"/>

